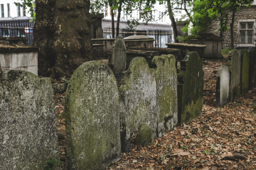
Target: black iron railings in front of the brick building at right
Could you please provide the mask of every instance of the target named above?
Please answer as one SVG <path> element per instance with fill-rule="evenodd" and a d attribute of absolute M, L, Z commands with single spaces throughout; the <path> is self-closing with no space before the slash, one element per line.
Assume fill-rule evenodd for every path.
<path fill-rule="evenodd" d="M 231 47 L 230 33 L 223 33 L 222 49 Z M 256 47 L 256 37 L 252 31 L 241 31 L 234 34 L 234 47 L 235 48 L 252 48 Z"/>

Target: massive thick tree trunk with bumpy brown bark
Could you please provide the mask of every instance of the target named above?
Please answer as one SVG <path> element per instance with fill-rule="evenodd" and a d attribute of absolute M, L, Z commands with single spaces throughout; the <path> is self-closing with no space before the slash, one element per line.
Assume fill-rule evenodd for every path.
<path fill-rule="evenodd" d="M 82 63 L 95 59 L 89 7 L 90 1 L 36 0 L 34 45 L 40 48 L 38 68 L 44 76 L 70 77 Z"/>

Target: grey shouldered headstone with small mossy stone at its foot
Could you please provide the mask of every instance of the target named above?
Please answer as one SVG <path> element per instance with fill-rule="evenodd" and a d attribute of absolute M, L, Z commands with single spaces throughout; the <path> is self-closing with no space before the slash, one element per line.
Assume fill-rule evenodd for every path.
<path fill-rule="evenodd" d="M 120 86 L 120 133 L 121 150 L 127 152 L 132 149 L 131 138 L 142 124 L 148 128 L 140 131 L 147 137 L 136 140 L 138 146 L 150 143 L 156 137 L 156 80 L 154 70 L 149 69 L 148 63 L 143 57 L 135 57 L 129 65 L 129 69 L 123 72 L 124 80 Z M 141 129 L 141 128 L 140 128 Z M 152 131 L 152 133 L 148 133 Z M 145 141 L 147 140 L 147 141 Z"/>

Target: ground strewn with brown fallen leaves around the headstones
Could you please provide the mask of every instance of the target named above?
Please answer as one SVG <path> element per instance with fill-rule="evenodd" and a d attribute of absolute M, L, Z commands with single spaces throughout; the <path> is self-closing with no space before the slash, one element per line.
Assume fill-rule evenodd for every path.
<path fill-rule="evenodd" d="M 204 104 L 200 117 L 175 127 L 147 147 L 135 145 L 108 169 L 255 169 L 256 89 L 217 108 L 216 73 L 221 64 L 227 64 L 227 58 L 204 62 Z M 66 152 L 64 97 L 65 92 L 54 94 L 57 130 L 64 134 L 58 135 L 62 159 Z M 61 169 L 66 169 L 65 161 Z"/>

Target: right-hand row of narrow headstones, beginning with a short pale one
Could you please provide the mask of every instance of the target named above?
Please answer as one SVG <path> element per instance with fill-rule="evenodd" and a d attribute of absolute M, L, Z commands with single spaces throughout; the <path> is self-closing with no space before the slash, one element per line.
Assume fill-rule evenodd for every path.
<path fill-rule="evenodd" d="M 217 71 L 216 106 L 222 107 L 228 101 L 239 99 L 256 85 L 256 49 L 250 53 L 246 49 L 232 50 L 228 55 L 228 65 Z"/>

